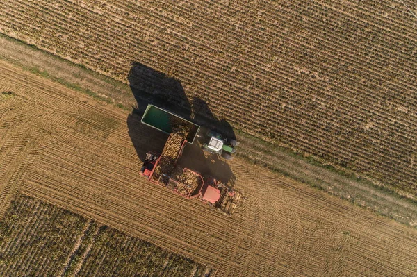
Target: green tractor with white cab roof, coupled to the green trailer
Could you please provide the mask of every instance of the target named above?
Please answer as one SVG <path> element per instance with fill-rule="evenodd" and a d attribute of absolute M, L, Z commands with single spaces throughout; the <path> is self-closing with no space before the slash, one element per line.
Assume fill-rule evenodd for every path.
<path fill-rule="evenodd" d="M 211 130 L 207 131 L 207 137 L 210 139 L 208 143 L 203 144 L 204 151 L 218 154 L 226 160 L 231 160 L 233 158 L 232 155 L 236 152 L 235 147 L 238 146 L 236 140 L 224 139 L 222 138 L 222 135 Z"/>

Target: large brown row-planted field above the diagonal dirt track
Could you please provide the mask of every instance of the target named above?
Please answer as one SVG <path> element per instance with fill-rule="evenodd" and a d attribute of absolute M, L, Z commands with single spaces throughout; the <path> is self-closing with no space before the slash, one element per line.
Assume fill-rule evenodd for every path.
<path fill-rule="evenodd" d="M 132 62 L 164 72 L 215 117 L 414 199 L 416 30 L 389 0 L 0 3 L 1 33 L 124 82 Z"/>

